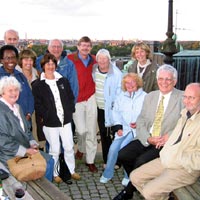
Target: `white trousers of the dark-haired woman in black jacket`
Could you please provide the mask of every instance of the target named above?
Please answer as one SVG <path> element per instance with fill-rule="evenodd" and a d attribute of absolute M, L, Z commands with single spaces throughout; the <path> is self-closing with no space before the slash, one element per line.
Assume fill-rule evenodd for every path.
<path fill-rule="evenodd" d="M 63 127 L 46 127 L 43 126 L 43 131 L 46 140 L 49 143 L 49 154 L 54 158 L 54 176 L 58 176 L 57 169 L 55 168 L 59 154 L 60 154 L 60 139 L 64 149 L 64 159 L 69 168 L 71 174 L 74 173 L 75 169 L 75 158 L 74 158 L 74 142 L 73 134 L 71 129 L 71 123 L 65 124 Z"/>

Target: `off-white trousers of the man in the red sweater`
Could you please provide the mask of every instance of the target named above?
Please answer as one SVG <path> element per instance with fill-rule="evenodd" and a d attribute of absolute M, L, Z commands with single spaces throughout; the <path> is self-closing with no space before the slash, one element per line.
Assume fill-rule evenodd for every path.
<path fill-rule="evenodd" d="M 94 163 L 97 151 L 97 105 L 95 95 L 76 103 L 73 120 L 78 136 L 78 149 L 86 153 L 86 162 Z"/>

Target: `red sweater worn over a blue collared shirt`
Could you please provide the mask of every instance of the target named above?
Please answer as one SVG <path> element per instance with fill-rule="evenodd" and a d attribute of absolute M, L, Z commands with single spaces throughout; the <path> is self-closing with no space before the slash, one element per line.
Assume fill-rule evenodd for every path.
<path fill-rule="evenodd" d="M 94 55 L 90 55 L 91 59 L 87 67 L 78 57 L 78 52 L 69 54 L 67 57 L 74 63 L 78 76 L 79 94 L 77 102 L 87 101 L 95 93 L 95 83 L 92 78 L 92 68 L 96 63 Z"/>

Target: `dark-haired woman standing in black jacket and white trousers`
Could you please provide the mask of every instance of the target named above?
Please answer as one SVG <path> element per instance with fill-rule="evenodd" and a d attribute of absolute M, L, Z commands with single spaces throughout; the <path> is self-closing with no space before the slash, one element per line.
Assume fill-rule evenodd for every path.
<path fill-rule="evenodd" d="M 74 95 L 66 78 L 56 72 L 57 60 L 53 54 L 47 53 L 41 60 L 43 72 L 39 79 L 32 83 L 35 100 L 35 112 L 43 123 L 43 132 L 49 144 L 49 154 L 53 156 L 54 181 L 62 182 L 59 169 L 56 167 L 60 147 L 64 149 L 64 159 L 71 177 L 79 180 L 75 172 L 74 142 L 71 128 L 72 114 L 75 111 Z M 67 173 L 67 172 L 66 172 Z"/>

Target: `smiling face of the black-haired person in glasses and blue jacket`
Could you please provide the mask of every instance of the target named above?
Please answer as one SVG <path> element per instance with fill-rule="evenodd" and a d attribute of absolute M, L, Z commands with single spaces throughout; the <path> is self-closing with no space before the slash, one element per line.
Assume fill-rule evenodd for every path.
<path fill-rule="evenodd" d="M 12 74 L 15 66 L 17 65 L 17 57 L 13 50 L 5 50 L 3 54 L 3 59 L 1 60 L 4 69 Z"/>

